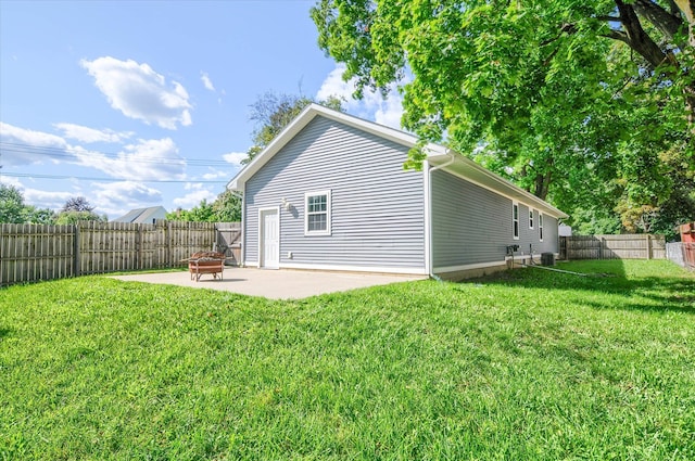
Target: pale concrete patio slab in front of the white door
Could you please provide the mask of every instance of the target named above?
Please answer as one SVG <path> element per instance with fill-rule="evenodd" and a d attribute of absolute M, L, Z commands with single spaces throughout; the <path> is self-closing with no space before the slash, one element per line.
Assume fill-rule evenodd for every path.
<path fill-rule="evenodd" d="M 226 268 L 224 280 L 205 274 L 199 282 L 186 272 L 140 273 L 114 276 L 114 279 L 228 291 L 270 299 L 300 299 L 326 293 L 344 292 L 389 283 L 425 280 L 425 276 L 400 276 L 354 272 L 320 272 L 303 270 L 264 270 Z"/>

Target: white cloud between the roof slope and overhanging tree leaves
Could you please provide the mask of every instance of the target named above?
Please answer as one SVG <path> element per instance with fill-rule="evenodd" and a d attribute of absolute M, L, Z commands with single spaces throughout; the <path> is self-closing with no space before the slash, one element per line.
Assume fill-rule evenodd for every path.
<path fill-rule="evenodd" d="M 365 89 L 362 100 L 355 100 L 352 94 L 355 92 L 355 79 L 344 81 L 342 78 L 345 72 L 344 64 L 339 64 L 326 77 L 321 87 L 316 93 L 318 100 L 326 100 L 333 97 L 345 100 L 345 108 L 350 113 L 375 120 L 377 124 L 401 129 L 401 116 L 403 115 L 403 98 L 395 85 L 390 87 L 388 99 L 383 99 L 380 92 Z"/>

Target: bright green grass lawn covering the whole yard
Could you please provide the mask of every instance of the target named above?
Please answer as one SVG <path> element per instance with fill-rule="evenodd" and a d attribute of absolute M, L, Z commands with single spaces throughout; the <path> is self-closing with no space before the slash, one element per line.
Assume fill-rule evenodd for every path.
<path fill-rule="evenodd" d="M 0 291 L 0 459 L 694 460 L 695 276 Z"/>

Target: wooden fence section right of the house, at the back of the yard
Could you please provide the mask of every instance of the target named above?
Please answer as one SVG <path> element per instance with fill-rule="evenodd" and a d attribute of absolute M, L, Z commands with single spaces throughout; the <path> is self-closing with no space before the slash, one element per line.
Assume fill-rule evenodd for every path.
<path fill-rule="evenodd" d="M 561 259 L 665 259 L 664 235 L 560 236 Z"/>

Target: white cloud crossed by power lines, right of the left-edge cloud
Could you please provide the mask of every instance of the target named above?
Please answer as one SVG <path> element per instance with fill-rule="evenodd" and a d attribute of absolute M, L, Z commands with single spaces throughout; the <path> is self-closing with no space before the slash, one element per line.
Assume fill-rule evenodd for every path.
<path fill-rule="evenodd" d="M 115 157 L 81 150 L 79 165 L 99 169 L 114 178 L 128 180 L 185 179 L 186 161 L 170 138 L 139 140 L 128 144 Z"/>

